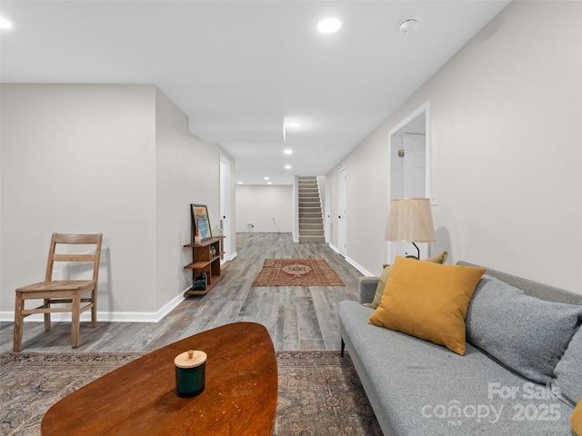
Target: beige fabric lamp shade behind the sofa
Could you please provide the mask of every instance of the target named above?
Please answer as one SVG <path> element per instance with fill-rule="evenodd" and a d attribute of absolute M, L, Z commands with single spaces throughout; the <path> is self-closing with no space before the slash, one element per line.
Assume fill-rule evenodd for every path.
<path fill-rule="evenodd" d="M 427 198 L 396 198 L 390 203 L 386 241 L 432 243 L 437 241 L 430 201 Z"/>

